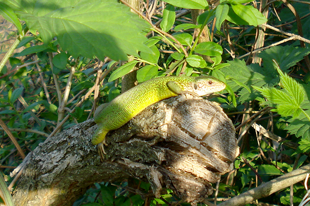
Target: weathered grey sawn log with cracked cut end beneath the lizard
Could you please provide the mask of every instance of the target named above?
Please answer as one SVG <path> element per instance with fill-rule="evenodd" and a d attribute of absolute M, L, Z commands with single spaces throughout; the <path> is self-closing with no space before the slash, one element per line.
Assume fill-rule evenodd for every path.
<path fill-rule="evenodd" d="M 181 95 L 155 103 L 107 135 L 105 159 L 90 142 L 93 119 L 40 144 L 23 162 L 16 206 L 70 206 L 94 182 L 148 180 L 187 202 L 212 193 L 238 154 L 231 120 L 216 104 Z"/>

